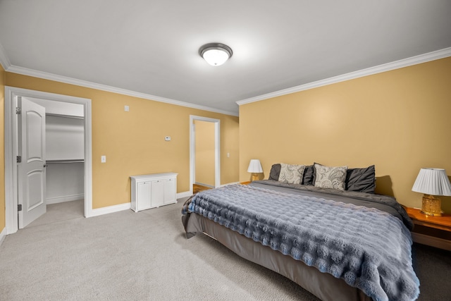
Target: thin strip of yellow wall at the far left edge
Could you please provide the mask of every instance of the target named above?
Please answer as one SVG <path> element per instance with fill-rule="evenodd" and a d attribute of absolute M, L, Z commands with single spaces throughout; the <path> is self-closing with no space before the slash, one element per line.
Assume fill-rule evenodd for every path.
<path fill-rule="evenodd" d="M 6 226 L 5 222 L 5 81 L 6 72 L 0 65 L 0 232 Z"/>

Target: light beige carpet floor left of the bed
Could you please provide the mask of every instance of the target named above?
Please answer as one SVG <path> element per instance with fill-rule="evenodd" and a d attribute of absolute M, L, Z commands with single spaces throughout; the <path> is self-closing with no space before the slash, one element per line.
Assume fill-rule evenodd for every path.
<path fill-rule="evenodd" d="M 187 240 L 182 201 L 65 220 L 49 205 L 1 245 L 0 300 L 317 300 L 205 235 Z"/>

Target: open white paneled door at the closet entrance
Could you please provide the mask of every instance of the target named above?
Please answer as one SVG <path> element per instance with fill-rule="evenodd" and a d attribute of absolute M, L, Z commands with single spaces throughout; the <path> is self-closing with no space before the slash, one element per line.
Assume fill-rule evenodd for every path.
<path fill-rule="evenodd" d="M 45 108 L 18 97 L 18 211 L 19 228 L 46 212 Z"/>

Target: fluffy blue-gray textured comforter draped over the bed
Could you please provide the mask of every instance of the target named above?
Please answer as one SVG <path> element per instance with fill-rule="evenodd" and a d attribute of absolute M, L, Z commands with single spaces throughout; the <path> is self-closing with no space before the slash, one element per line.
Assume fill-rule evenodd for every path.
<path fill-rule="evenodd" d="M 327 198 L 230 185 L 197 193 L 183 213 L 201 214 L 342 278 L 373 300 L 416 299 L 412 238 L 402 219 Z"/>

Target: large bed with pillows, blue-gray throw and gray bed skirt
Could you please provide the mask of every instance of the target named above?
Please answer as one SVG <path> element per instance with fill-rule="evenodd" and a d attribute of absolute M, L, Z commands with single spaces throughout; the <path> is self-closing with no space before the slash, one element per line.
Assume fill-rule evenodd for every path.
<path fill-rule="evenodd" d="M 205 233 L 321 300 L 415 300 L 412 221 L 373 192 L 374 166 L 338 167 L 274 164 L 268 180 L 199 192 L 187 238 Z"/>

